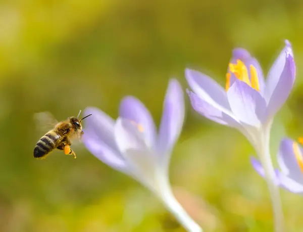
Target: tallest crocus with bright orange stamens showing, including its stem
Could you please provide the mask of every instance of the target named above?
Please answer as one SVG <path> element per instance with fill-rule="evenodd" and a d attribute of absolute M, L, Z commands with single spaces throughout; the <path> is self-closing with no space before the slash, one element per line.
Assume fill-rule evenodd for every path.
<path fill-rule="evenodd" d="M 274 184 L 269 141 L 275 114 L 287 100 L 295 80 L 295 63 L 288 40 L 264 79 L 258 61 L 244 49 L 233 50 L 225 89 L 209 76 L 186 69 L 195 111 L 217 123 L 237 128 L 254 146 L 264 167 L 275 218 L 275 231 L 283 231 L 279 191 Z"/>

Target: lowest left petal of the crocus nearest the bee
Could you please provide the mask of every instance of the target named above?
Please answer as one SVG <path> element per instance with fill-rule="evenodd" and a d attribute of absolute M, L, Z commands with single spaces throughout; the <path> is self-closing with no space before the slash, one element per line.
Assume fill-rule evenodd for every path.
<path fill-rule="evenodd" d="M 118 171 L 128 173 L 125 159 L 119 151 L 105 144 L 93 131 L 85 130 L 82 141 L 88 151 L 99 160 Z"/>

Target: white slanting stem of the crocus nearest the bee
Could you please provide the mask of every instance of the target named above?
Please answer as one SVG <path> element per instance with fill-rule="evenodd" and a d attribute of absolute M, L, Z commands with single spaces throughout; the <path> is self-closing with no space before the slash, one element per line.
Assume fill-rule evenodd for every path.
<path fill-rule="evenodd" d="M 158 195 L 166 208 L 175 216 L 175 218 L 187 231 L 203 232 L 203 229 L 188 215 L 185 209 L 176 200 L 169 183 L 163 183 L 161 185 L 161 193 Z"/>

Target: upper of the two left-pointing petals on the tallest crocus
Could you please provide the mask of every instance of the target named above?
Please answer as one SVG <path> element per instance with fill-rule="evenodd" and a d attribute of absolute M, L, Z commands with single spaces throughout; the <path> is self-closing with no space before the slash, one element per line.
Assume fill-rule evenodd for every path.
<path fill-rule="evenodd" d="M 185 77 L 191 89 L 201 99 L 217 108 L 230 109 L 225 89 L 211 77 L 191 69 L 185 70 Z"/>

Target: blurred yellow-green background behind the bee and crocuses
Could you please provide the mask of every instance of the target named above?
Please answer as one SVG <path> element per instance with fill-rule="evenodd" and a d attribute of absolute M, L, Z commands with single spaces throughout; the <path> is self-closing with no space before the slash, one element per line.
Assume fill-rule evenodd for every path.
<path fill-rule="evenodd" d="M 169 78 L 187 87 L 185 67 L 224 85 L 233 48 L 248 49 L 266 73 L 287 38 L 297 79 L 274 123 L 275 158 L 281 136 L 303 133 L 302 22 L 295 0 L 1 1 L 0 231 L 184 231 L 139 183 L 84 148 L 76 160 L 60 152 L 34 159 L 41 134 L 33 114 L 63 120 L 96 106 L 117 117 L 121 98 L 133 95 L 159 123 Z M 267 186 L 249 163 L 254 150 L 185 97 L 170 169 L 177 198 L 205 231 L 272 231 Z M 303 198 L 281 194 L 286 231 L 303 231 Z"/>

